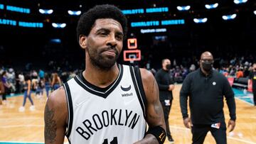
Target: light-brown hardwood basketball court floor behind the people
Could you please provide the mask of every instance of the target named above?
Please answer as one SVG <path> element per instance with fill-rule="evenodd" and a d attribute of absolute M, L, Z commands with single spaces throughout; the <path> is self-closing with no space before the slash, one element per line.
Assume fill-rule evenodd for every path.
<path fill-rule="evenodd" d="M 171 107 L 169 123 L 175 143 L 191 143 L 191 131 L 183 126 L 178 93 L 181 85 L 174 89 L 174 101 Z M 26 111 L 19 112 L 23 96 L 15 96 L 8 99 L 8 104 L 0 109 L 0 143 L 1 142 L 36 142 L 43 143 L 43 109 L 46 96 L 37 99 L 33 94 L 36 111 L 29 111 L 30 102 L 26 103 Z M 235 131 L 228 136 L 228 143 L 255 143 L 256 144 L 256 107 L 247 104 L 240 99 L 235 99 L 237 104 L 237 122 Z M 228 109 L 225 104 L 225 118 L 228 121 Z M 228 133 L 228 132 L 227 132 Z M 229 133 L 228 133 L 229 135 Z M 215 143 L 208 133 L 205 144 Z M 167 144 L 167 141 L 166 143 Z"/>

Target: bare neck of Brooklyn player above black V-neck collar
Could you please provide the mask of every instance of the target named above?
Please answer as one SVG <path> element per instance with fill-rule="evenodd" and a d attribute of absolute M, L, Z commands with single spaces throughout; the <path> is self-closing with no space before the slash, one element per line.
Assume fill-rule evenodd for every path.
<path fill-rule="evenodd" d="M 107 87 L 114 82 L 114 80 L 117 79 L 118 74 L 119 69 L 116 64 L 107 71 L 87 65 L 85 71 L 82 72 L 82 76 L 87 80 L 87 82 L 102 88 Z"/>

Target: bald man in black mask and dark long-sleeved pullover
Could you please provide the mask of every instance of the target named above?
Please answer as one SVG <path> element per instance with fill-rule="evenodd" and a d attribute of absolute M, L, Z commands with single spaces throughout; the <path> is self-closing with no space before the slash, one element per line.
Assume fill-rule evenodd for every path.
<path fill-rule="evenodd" d="M 188 117 L 187 101 L 191 118 Z M 213 55 L 203 52 L 200 68 L 188 74 L 181 87 L 180 104 L 183 123 L 191 128 L 193 143 L 201 144 L 208 131 L 212 133 L 216 143 L 227 143 L 226 125 L 223 113 L 223 98 L 228 104 L 230 131 L 235 128 L 235 98 L 228 79 L 213 70 Z"/>

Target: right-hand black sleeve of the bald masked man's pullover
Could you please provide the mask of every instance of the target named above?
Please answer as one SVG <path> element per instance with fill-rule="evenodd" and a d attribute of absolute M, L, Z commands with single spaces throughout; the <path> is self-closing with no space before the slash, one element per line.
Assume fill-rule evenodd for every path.
<path fill-rule="evenodd" d="M 224 83 L 223 83 L 223 93 L 225 96 L 225 99 L 228 104 L 228 110 L 230 112 L 230 119 L 235 121 L 236 114 L 235 114 L 235 94 L 230 87 L 230 84 L 228 82 L 228 79 L 224 77 Z"/>

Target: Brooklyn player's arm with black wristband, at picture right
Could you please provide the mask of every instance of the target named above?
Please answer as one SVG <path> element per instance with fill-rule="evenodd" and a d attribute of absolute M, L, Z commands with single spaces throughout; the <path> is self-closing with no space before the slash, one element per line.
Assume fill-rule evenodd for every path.
<path fill-rule="evenodd" d="M 166 125 L 164 112 L 159 101 L 159 89 L 153 74 L 148 70 L 141 69 L 142 83 L 146 94 L 146 122 L 149 125 L 144 139 L 139 143 L 164 143 L 166 138 Z"/>

